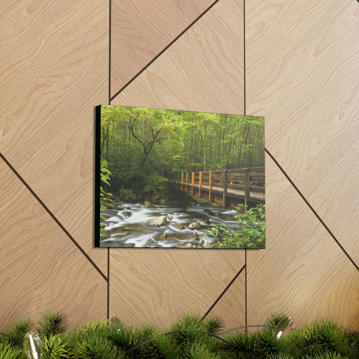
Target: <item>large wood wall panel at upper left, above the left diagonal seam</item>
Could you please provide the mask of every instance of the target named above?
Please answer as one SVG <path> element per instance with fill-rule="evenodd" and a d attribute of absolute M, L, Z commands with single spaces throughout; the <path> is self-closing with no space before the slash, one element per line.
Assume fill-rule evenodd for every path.
<path fill-rule="evenodd" d="M 107 251 L 93 248 L 93 217 L 108 1 L 8 1 L 0 32 L 0 151 L 106 274 Z"/>

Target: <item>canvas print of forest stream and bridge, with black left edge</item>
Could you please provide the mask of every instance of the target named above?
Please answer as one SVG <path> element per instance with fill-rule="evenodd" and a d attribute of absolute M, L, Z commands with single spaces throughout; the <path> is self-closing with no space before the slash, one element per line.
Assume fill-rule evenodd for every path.
<path fill-rule="evenodd" d="M 257 248 L 264 117 L 96 107 L 95 246 Z"/>

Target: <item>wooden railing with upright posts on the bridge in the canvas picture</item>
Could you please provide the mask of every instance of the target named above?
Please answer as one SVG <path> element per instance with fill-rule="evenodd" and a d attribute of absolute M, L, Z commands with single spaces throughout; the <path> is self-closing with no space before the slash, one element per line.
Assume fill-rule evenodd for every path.
<path fill-rule="evenodd" d="M 194 194 L 194 188 L 199 189 L 199 197 L 202 197 L 203 188 L 209 192 L 209 202 L 212 202 L 211 192 L 223 189 L 223 206 L 227 189 L 244 191 L 244 206 L 251 192 L 265 193 L 265 167 L 250 167 L 236 169 L 222 169 L 218 171 L 169 173 L 168 182 L 177 184 L 177 189 Z M 176 187 L 176 185 L 175 185 Z"/>

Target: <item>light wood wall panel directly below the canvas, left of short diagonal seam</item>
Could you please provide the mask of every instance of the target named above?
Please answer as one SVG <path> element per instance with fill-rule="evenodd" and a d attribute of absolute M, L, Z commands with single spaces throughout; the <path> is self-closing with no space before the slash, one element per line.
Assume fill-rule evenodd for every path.
<path fill-rule="evenodd" d="M 203 315 L 243 264 L 243 250 L 112 248 L 109 316 L 168 328 L 184 312 Z"/>

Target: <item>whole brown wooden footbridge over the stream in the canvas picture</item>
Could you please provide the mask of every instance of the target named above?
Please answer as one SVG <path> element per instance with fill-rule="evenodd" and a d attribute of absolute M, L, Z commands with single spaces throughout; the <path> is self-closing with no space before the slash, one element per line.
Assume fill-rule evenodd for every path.
<path fill-rule="evenodd" d="M 265 167 L 170 173 L 168 185 L 223 207 L 265 203 Z"/>

